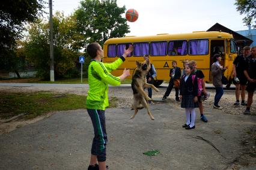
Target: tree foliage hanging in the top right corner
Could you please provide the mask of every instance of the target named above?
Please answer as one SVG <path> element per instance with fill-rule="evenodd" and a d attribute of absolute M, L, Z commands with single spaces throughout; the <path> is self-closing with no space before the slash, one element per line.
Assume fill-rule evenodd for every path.
<path fill-rule="evenodd" d="M 256 28 L 256 1 L 236 0 L 234 4 L 237 6 L 236 10 L 239 11 L 240 14 L 246 14 L 246 17 L 243 18 L 243 23 Z"/>

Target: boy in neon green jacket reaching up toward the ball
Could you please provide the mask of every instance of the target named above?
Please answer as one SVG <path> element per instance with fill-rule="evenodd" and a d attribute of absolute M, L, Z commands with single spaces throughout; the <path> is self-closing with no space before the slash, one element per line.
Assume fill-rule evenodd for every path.
<path fill-rule="evenodd" d="M 124 62 L 126 56 L 133 51 L 132 45 L 124 50 L 123 56 L 112 63 L 103 63 L 103 50 L 99 43 L 93 42 L 87 46 L 87 53 L 92 60 L 88 68 L 89 91 L 87 96 L 87 112 L 91 117 L 94 128 L 93 145 L 91 147 L 90 169 L 106 169 L 106 143 L 108 142 L 105 124 L 105 108 L 108 107 L 108 84 L 118 86 L 121 81 L 130 75 L 129 69 L 115 77 L 114 71 Z M 99 165 L 97 165 L 97 161 Z"/>

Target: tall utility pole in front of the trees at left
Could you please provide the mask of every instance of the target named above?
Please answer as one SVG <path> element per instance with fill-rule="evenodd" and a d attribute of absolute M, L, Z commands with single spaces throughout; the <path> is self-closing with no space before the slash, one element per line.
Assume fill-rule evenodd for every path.
<path fill-rule="evenodd" d="M 54 57 L 53 57 L 53 24 L 52 24 L 52 0 L 49 0 L 50 8 L 50 81 L 54 81 Z"/>

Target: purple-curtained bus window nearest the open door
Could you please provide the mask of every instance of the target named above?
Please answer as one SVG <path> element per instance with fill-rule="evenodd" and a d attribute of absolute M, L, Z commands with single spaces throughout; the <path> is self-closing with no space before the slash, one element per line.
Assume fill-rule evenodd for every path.
<path fill-rule="evenodd" d="M 209 53 L 208 40 L 190 40 L 189 54 L 190 55 L 206 55 Z"/>

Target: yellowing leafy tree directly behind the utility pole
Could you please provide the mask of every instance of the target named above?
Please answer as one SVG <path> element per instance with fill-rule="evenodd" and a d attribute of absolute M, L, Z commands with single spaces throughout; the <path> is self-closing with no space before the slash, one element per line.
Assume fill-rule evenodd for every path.
<path fill-rule="evenodd" d="M 72 17 L 56 12 L 53 16 L 53 48 L 55 78 L 63 77 L 73 69 L 78 60 L 78 52 L 71 46 L 76 37 L 76 22 Z M 25 53 L 34 62 L 38 77 L 49 80 L 49 23 L 42 19 L 31 23 L 28 28 L 28 38 L 25 43 Z"/>

